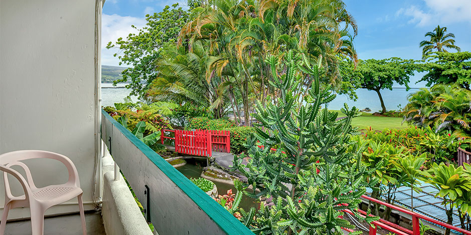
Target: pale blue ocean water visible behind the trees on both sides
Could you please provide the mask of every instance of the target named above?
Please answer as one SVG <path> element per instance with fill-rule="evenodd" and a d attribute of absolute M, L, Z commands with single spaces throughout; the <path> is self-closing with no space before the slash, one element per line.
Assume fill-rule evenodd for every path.
<path fill-rule="evenodd" d="M 115 102 L 123 102 L 123 99 L 130 93 L 130 90 L 125 88 L 123 84 L 118 84 L 117 88 L 110 83 L 102 83 L 101 87 L 101 98 L 103 106 L 113 106 Z M 383 97 L 386 109 L 398 109 L 397 106 L 399 104 L 401 107 L 404 107 L 407 104 L 407 95 L 416 92 L 417 90 L 418 88 L 411 88 L 409 90 L 405 90 L 404 88 L 381 90 L 381 95 Z M 338 110 L 343 107 L 344 103 L 347 103 L 349 107 L 356 106 L 359 109 L 369 107 L 372 112 L 381 109 L 381 103 L 379 102 L 379 97 L 376 91 L 357 89 L 356 93 L 358 95 L 358 99 L 356 101 L 349 99 L 347 95 L 337 95 L 337 97 L 328 104 L 328 108 Z M 133 101 L 138 101 L 136 96 L 131 96 L 131 99 Z"/>

